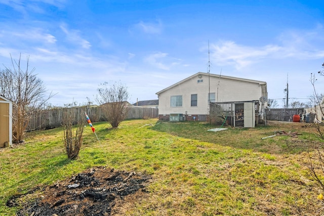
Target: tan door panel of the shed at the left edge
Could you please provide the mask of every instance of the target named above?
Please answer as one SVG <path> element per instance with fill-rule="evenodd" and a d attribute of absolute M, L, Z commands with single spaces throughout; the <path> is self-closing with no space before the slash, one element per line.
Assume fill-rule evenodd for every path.
<path fill-rule="evenodd" d="M 9 139 L 9 103 L 0 103 L 0 148 L 5 147 Z"/>

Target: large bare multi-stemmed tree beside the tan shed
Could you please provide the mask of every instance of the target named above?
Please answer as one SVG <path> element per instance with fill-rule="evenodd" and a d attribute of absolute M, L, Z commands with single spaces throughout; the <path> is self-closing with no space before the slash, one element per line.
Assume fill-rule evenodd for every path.
<path fill-rule="evenodd" d="M 22 142 L 30 114 L 44 107 L 54 95 L 45 98 L 45 85 L 33 74 L 35 69 L 29 69 L 29 57 L 25 70 L 21 66 L 21 56 L 18 62 L 12 57 L 11 61 L 12 68 L 0 71 L 0 95 L 13 102 L 13 137 L 15 142 Z"/>

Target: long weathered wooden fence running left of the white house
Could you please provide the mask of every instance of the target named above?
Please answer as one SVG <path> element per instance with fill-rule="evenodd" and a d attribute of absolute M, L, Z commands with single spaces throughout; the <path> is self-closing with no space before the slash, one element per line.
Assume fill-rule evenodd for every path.
<path fill-rule="evenodd" d="M 30 116 L 27 130 L 49 129 L 62 125 L 63 114 L 71 109 L 71 113 L 75 116 L 75 120 L 78 116 L 85 116 L 87 112 L 92 122 L 106 121 L 104 113 L 101 107 L 72 107 L 72 108 L 55 108 L 49 110 L 43 110 L 33 113 Z M 146 119 L 157 118 L 158 109 L 149 107 L 130 107 L 125 119 Z"/>

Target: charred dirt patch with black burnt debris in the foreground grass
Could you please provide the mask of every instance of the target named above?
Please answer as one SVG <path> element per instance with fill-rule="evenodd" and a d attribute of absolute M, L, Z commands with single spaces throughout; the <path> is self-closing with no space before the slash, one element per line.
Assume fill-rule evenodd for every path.
<path fill-rule="evenodd" d="M 23 206 L 17 215 L 123 215 L 123 205 L 147 195 L 150 176 L 105 167 L 91 168 L 43 189 L 16 195 L 7 206 Z"/>

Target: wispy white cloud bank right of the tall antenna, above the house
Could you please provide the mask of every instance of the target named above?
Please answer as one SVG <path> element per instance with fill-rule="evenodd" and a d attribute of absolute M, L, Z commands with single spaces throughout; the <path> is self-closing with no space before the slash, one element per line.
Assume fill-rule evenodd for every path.
<path fill-rule="evenodd" d="M 210 46 L 211 58 L 218 65 L 233 65 L 236 69 L 265 59 L 320 59 L 324 57 L 324 49 L 320 46 L 324 41 L 323 35 L 323 29 L 318 26 L 308 32 L 290 30 L 281 33 L 277 38 L 277 45 L 254 47 L 239 45 L 230 40 L 220 40 Z M 205 50 L 206 48 L 204 52 Z"/>

